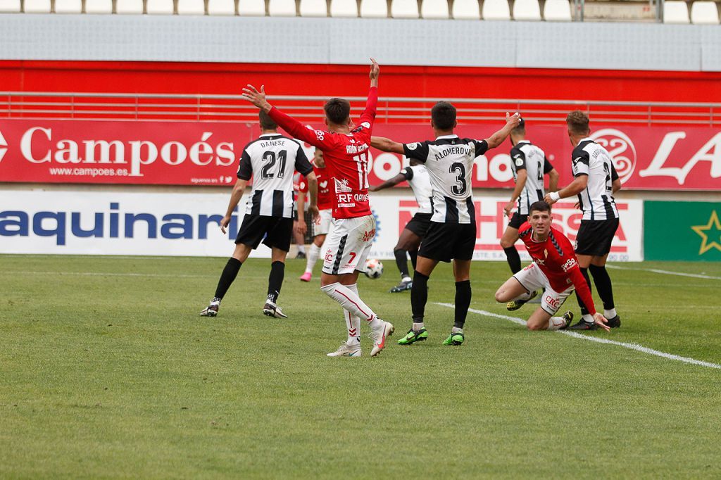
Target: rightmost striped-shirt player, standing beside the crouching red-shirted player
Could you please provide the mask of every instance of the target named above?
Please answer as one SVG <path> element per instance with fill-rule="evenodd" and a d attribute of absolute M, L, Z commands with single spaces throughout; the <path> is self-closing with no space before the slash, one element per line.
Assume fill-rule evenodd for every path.
<path fill-rule="evenodd" d="M 611 252 L 611 241 L 614 240 L 616 229 L 619 228 L 619 210 L 614 194 L 621 188 L 621 180 L 609 152 L 589 137 L 588 123 L 588 115 L 580 110 L 570 112 L 566 117 L 568 138 L 574 147 L 571 156 L 574 180 L 558 192 L 550 192 L 545 200 L 552 205 L 561 198 L 578 195 L 578 204 L 583 210 L 576 236 L 578 265 L 588 288 L 588 272 L 593 275 L 593 283 L 603 301 L 603 316 L 609 319 L 611 328 L 617 328 L 621 326 L 621 318 L 616 314 L 614 290 L 609 272 L 606 271 L 606 259 Z M 578 298 L 578 304 L 583 318 L 571 329 L 595 329 L 596 324 L 593 324 L 588 306 L 581 298 Z"/>

